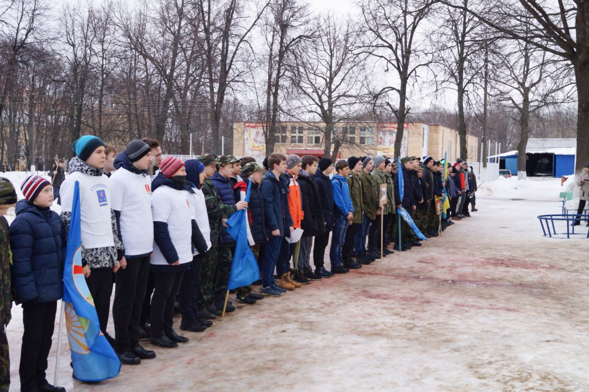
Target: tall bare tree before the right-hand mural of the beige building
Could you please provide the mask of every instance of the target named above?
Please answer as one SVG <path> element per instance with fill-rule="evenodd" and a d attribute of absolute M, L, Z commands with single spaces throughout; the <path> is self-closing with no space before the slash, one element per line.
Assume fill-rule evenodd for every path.
<path fill-rule="evenodd" d="M 375 100 L 384 99 L 397 119 L 395 159 L 401 155 L 403 126 L 411 110 L 407 106 L 409 82 L 416 79 L 419 69 L 432 63 L 425 43 L 419 42 L 419 29 L 437 1 L 363 0 L 360 3 L 366 34 L 363 51 L 382 61 L 385 72 L 389 71 L 389 67 L 394 69 L 399 78 L 398 86 L 385 86 L 375 94 Z M 388 98 L 391 92 L 398 95 L 397 105 L 393 105 Z"/>

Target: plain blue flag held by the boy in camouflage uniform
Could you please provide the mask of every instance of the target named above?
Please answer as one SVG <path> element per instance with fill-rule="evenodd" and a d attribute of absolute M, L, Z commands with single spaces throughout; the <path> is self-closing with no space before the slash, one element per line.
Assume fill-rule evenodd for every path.
<path fill-rule="evenodd" d="M 252 181 L 247 185 L 246 199 L 250 200 Z M 239 210 L 227 220 L 227 232 L 236 241 L 235 253 L 233 254 L 233 264 L 231 264 L 231 275 L 227 290 L 237 289 L 237 287 L 248 286 L 252 282 L 260 279 L 260 270 L 257 266 L 256 256 L 252 253 L 249 243 L 247 242 L 247 210 Z"/>

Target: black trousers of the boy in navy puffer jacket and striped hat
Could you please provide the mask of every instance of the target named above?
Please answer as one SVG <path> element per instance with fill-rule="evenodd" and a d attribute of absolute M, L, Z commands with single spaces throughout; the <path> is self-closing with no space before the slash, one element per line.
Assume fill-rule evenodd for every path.
<path fill-rule="evenodd" d="M 45 371 L 47 356 L 51 349 L 56 311 L 57 301 L 41 303 L 27 301 L 22 304 L 22 322 L 25 331 L 22 334 L 21 364 L 18 368 L 21 391 L 38 390 L 47 382 Z"/>

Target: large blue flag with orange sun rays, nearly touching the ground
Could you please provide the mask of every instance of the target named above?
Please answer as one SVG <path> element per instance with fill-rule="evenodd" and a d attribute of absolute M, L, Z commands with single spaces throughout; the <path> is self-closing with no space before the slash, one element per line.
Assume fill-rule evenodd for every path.
<path fill-rule="evenodd" d="M 65 252 L 65 324 L 75 377 L 81 381 L 102 381 L 117 376 L 121 362 L 100 331 L 94 300 L 82 270 L 81 250 L 80 184 L 76 181 Z"/>

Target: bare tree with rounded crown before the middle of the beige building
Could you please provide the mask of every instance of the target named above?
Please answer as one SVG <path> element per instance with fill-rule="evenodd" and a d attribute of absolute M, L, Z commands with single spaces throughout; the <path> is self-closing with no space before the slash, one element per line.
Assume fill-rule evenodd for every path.
<path fill-rule="evenodd" d="M 333 15 L 317 18 L 317 38 L 296 50 L 290 78 L 300 99 L 299 108 L 319 117 L 323 128 L 323 154 L 335 159 L 348 135 L 335 125 L 347 120 L 363 102 L 363 63 L 366 55 L 356 55 L 358 32 L 351 20 L 340 22 Z M 333 145 L 333 150 L 332 150 Z"/>

